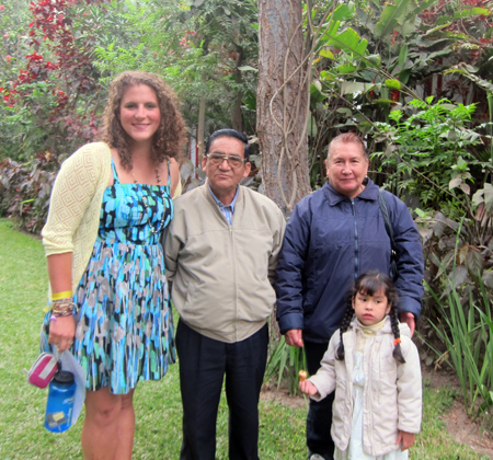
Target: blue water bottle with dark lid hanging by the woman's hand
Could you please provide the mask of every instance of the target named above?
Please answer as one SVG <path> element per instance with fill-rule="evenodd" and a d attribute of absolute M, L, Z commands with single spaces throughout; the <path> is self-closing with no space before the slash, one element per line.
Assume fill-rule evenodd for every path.
<path fill-rule="evenodd" d="M 55 373 L 46 403 L 45 428 L 48 432 L 61 433 L 70 428 L 74 394 L 73 373 L 66 370 Z"/>

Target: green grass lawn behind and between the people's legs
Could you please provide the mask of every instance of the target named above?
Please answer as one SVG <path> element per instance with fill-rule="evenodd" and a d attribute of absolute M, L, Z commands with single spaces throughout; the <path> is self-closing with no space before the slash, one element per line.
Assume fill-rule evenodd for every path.
<path fill-rule="evenodd" d="M 38 355 L 38 336 L 46 304 L 47 274 L 42 244 L 12 229 L 0 219 L 0 459 L 81 459 L 82 417 L 62 434 L 44 426 L 47 390 L 28 384 L 23 368 Z M 438 419 L 454 394 L 426 388 L 423 432 L 411 450 L 411 459 L 478 460 L 472 450 L 459 446 Z M 136 391 L 137 428 L 135 459 L 179 458 L 182 411 L 177 365 L 160 382 L 144 382 Z M 261 403 L 260 458 L 303 459 L 306 407 L 278 402 Z M 227 406 L 221 400 L 217 424 L 217 458 L 227 459 Z"/>

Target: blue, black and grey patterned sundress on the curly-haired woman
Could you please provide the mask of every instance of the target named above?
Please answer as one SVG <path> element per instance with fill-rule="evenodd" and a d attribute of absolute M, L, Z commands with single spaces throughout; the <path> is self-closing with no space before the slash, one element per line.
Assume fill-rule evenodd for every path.
<path fill-rule="evenodd" d="M 103 195 L 94 250 L 73 295 L 70 352 L 85 369 L 89 390 L 108 386 L 112 393 L 125 394 L 139 380 L 161 379 L 175 360 L 159 242 L 173 218 L 173 202 L 170 179 L 168 185 L 121 184 L 113 160 L 112 170 L 114 184 Z M 45 344 L 49 318 L 50 312 Z"/>

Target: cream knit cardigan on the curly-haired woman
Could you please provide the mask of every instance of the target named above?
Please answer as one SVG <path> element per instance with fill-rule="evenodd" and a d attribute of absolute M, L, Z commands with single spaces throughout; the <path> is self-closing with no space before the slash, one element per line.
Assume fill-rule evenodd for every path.
<path fill-rule="evenodd" d="M 98 238 L 101 205 L 112 174 L 112 154 L 104 142 L 88 143 L 61 164 L 43 228 L 46 256 L 72 253 L 76 291 Z"/>

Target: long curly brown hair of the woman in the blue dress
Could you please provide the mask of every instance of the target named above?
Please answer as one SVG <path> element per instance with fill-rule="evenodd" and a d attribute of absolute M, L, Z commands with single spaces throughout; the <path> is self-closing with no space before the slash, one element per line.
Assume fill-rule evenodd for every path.
<path fill-rule="evenodd" d="M 179 159 L 185 138 L 185 123 L 177 110 L 177 100 L 171 88 L 156 73 L 138 70 L 127 71 L 116 77 L 110 87 L 110 97 L 104 108 L 103 127 L 100 139 L 117 149 L 122 165 L 131 170 L 131 137 L 121 122 L 121 104 L 125 91 L 137 84 L 146 84 L 156 92 L 161 122 L 152 138 L 152 159 L 160 164 L 168 158 Z"/>

